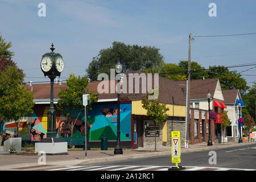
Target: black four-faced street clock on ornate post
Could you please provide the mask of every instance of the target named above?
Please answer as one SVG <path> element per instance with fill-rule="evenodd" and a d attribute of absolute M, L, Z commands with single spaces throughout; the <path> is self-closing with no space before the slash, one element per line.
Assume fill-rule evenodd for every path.
<path fill-rule="evenodd" d="M 48 76 L 51 80 L 51 101 L 50 108 L 47 113 L 47 138 L 56 138 L 56 111 L 53 105 L 53 84 L 54 79 L 59 76 L 63 71 L 64 63 L 62 56 L 59 53 L 55 53 L 53 43 L 50 53 L 45 53 L 41 61 L 41 69 L 44 76 Z"/>

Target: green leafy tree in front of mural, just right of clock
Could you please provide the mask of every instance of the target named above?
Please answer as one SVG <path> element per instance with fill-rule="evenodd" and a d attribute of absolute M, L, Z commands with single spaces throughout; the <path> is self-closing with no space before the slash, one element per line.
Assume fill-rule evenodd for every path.
<path fill-rule="evenodd" d="M 89 85 L 89 80 L 82 76 L 76 77 L 71 74 L 67 80 L 68 88 L 61 88 L 59 91 L 60 100 L 57 102 L 57 110 L 60 111 L 68 119 L 68 127 L 71 130 L 71 137 L 73 137 L 73 130 L 79 118 L 81 111 L 84 109 L 82 105 L 82 95 L 86 93 L 86 87 Z M 88 101 L 89 108 L 93 102 L 98 100 L 98 94 L 89 91 L 90 100 Z"/>

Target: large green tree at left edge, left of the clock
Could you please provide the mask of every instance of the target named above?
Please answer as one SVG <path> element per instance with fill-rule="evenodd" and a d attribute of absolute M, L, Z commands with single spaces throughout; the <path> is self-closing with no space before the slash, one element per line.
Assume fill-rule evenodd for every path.
<path fill-rule="evenodd" d="M 16 66 L 7 66 L 0 71 L 0 143 L 6 122 L 15 121 L 18 133 L 19 119 L 33 113 L 34 96 L 21 85 L 23 76 Z"/>

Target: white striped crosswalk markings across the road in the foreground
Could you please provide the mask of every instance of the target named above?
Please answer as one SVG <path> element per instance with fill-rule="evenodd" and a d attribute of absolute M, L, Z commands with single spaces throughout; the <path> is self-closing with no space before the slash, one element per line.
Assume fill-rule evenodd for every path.
<path fill-rule="evenodd" d="M 47 171 L 168 171 L 168 168 L 174 166 L 66 166 L 55 169 L 46 169 Z M 228 171 L 228 170 L 241 170 L 241 171 L 256 171 L 256 169 L 237 169 L 237 168 L 220 168 L 220 167 L 197 167 L 197 166 L 183 166 L 183 171 Z"/>

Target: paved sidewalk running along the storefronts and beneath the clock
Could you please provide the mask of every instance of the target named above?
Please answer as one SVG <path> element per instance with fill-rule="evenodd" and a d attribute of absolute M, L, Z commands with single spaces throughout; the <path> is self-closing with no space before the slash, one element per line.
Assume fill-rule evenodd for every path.
<path fill-rule="evenodd" d="M 181 146 L 181 155 L 184 152 L 214 150 L 216 148 L 229 148 L 235 146 L 246 146 L 254 142 L 234 143 L 228 142 L 224 144 L 213 144 L 207 146 L 207 143 L 193 144 L 189 148 Z M 123 149 L 123 155 L 114 155 L 114 150 L 88 150 L 87 159 L 85 159 L 85 151 L 68 151 L 68 155 L 46 155 L 46 165 L 38 164 L 39 155 L 9 155 L 0 154 L 0 170 L 32 170 L 43 169 L 52 166 L 75 166 L 84 165 L 96 162 L 110 162 L 114 160 L 125 160 L 135 158 L 146 158 L 150 156 L 170 155 L 171 146 L 157 146 L 156 152 L 154 147 L 138 148 L 138 149 Z"/>

